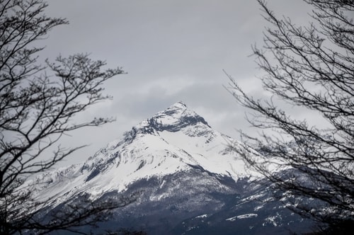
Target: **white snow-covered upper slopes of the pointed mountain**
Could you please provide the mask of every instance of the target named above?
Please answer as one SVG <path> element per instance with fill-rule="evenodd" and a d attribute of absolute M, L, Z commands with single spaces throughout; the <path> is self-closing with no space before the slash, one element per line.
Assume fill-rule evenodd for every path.
<path fill-rule="evenodd" d="M 55 197 L 58 205 L 79 193 L 89 193 L 94 199 L 107 192 L 122 192 L 141 179 L 192 168 L 236 181 L 250 173 L 231 144 L 242 147 L 178 102 L 132 127 L 122 139 L 110 142 L 84 164 L 45 173 L 33 183 L 40 183 L 39 200 Z"/>

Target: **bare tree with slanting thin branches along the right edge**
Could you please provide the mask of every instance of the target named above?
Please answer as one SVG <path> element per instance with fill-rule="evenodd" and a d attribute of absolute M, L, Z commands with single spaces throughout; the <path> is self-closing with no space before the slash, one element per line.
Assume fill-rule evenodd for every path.
<path fill-rule="evenodd" d="M 241 151 L 246 162 L 292 197 L 322 202 L 309 207 L 294 200 L 292 210 L 335 225 L 354 219 L 354 2 L 304 1 L 313 22 L 297 26 L 258 0 L 270 27 L 263 49 L 253 53 L 271 98 L 254 98 L 228 75 L 229 91 L 262 130 L 258 137 L 242 133 L 262 153 Z M 326 129 L 294 119 L 284 106 L 317 113 Z M 284 177 L 275 168 L 296 171 Z"/>

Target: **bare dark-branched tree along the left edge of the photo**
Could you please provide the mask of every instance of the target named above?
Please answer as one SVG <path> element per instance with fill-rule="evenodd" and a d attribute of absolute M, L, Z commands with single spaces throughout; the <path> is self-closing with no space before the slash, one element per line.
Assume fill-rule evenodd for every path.
<path fill-rule="evenodd" d="M 68 22 L 50 18 L 42 0 L 0 0 L 0 234 L 35 229 L 38 234 L 94 224 L 104 212 L 125 206 L 129 199 L 100 202 L 83 200 L 65 205 L 40 221 L 50 199 L 38 202 L 25 178 L 47 171 L 77 149 L 58 145 L 63 134 L 82 127 L 99 126 L 111 118 L 74 122 L 73 117 L 104 101 L 102 84 L 120 68 L 103 70 L 105 62 L 88 55 L 57 57 L 54 63 L 38 63 L 39 40 Z M 56 147 L 52 155 L 48 149 Z M 42 155 L 45 154 L 45 157 Z"/>

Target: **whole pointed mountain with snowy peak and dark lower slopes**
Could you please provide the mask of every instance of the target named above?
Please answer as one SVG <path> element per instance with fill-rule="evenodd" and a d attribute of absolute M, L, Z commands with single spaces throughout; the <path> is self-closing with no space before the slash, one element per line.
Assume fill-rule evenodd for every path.
<path fill-rule="evenodd" d="M 248 171 L 236 148 L 245 146 L 178 102 L 83 164 L 37 176 L 34 194 L 38 200 L 52 198 L 46 210 L 55 210 L 80 203 L 83 195 L 104 200 L 138 193 L 135 202 L 98 224 L 94 234 L 118 227 L 148 234 L 308 231 L 311 222 L 287 210 L 286 194 L 275 198 L 272 184 Z"/>

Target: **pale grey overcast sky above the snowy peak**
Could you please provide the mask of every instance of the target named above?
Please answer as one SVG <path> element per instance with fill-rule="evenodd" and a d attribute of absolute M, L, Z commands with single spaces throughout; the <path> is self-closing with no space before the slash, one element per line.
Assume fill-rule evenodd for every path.
<path fill-rule="evenodd" d="M 113 116 L 116 122 L 72 133 L 63 144 L 91 144 L 64 164 L 83 161 L 145 118 L 183 101 L 219 132 L 239 139 L 249 130 L 245 110 L 223 86 L 227 71 L 248 92 L 258 93 L 261 74 L 251 45 L 262 45 L 267 23 L 256 0 L 60 0 L 48 1 L 48 16 L 64 17 L 43 41 L 41 57 L 55 59 L 89 52 L 108 67 L 127 72 L 105 84 L 113 101 L 86 117 Z M 306 22 L 300 0 L 270 0 L 278 16 Z M 78 117 L 84 118 L 84 117 Z"/>

